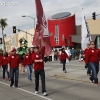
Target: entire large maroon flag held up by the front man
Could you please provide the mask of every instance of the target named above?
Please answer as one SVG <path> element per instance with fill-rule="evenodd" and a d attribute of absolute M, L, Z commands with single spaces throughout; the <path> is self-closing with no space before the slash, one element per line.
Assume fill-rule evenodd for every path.
<path fill-rule="evenodd" d="M 50 37 L 48 35 L 48 31 L 44 31 L 47 30 L 47 22 L 44 15 L 43 7 L 40 0 L 35 0 L 35 3 L 36 3 L 36 13 L 37 13 L 38 23 L 36 25 L 32 44 L 34 46 L 40 46 L 39 37 L 42 37 L 43 43 L 45 45 L 45 55 L 50 55 L 52 52 L 52 48 L 50 44 Z"/>

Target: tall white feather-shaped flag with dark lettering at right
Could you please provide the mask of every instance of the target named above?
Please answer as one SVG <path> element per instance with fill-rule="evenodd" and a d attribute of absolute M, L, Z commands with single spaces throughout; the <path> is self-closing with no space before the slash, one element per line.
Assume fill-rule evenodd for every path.
<path fill-rule="evenodd" d="M 81 29 L 81 47 L 82 50 L 86 49 L 86 44 L 90 43 L 91 41 L 91 35 L 88 27 L 88 23 L 86 22 L 84 13 L 82 14 L 82 29 Z"/>

